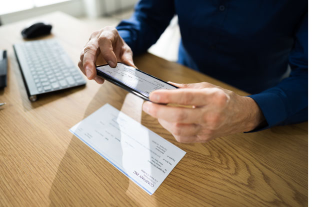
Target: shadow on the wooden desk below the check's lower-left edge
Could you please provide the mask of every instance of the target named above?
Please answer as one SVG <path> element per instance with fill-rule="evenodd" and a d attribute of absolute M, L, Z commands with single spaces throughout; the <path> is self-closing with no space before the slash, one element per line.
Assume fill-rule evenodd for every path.
<path fill-rule="evenodd" d="M 73 136 L 51 185 L 50 206 L 133 205 L 129 197 L 123 199 L 128 184 L 125 175 Z"/>

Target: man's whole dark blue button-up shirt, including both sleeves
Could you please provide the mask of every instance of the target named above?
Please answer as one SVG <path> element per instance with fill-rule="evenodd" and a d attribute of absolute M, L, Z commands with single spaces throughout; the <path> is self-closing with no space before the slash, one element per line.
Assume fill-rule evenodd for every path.
<path fill-rule="evenodd" d="M 140 0 L 116 28 L 139 54 L 177 14 L 178 62 L 251 93 L 270 127 L 307 120 L 307 6 L 307 0 Z"/>

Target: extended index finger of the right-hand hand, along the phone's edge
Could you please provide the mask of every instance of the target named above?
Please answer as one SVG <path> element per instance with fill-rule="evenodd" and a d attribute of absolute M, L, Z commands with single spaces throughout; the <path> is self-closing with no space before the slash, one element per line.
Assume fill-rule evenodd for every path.
<path fill-rule="evenodd" d="M 210 103 L 210 94 L 214 91 L 214 88 L 159 89 L 152 91 L 149 95 L 149 99 L 156 103 L 201 106 Z"/>

